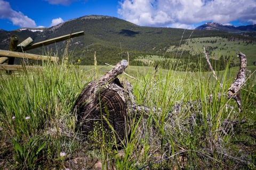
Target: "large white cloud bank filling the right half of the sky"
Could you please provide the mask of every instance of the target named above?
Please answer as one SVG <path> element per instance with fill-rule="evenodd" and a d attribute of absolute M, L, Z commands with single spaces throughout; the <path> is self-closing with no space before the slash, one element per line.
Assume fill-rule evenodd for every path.
<path fill-rule="evenodd" d="M 138 25 L 193 28 L 194 23 L 256 21 L 255 0 L 124 0 L 118 14 Z"/>

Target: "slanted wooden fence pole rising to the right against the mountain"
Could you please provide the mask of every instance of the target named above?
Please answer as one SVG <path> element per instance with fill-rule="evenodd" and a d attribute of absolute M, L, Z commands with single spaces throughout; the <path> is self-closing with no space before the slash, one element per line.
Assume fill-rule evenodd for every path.
<path fill-rule="evenodd" d="M 41 41 L 39 43 L 31 44 L 31 45 L 25 47 L 23 49 L 23 51 L 38 48 L 38 47 L 43 47 L 43 46 L 46 46 L 46 45 L 58 43 L 58 42 L 63 41 L 63 40 L 67 40 L 67 39 L 70 39 L 70 38 L 75 38 L 75 37 L 79 37 L 79 36 L 83 36 L 83 35 L 84 35 L 84 31 L 80 31 L 80 32 L 71 33 L 71 34 L 66 35 L 66 36 L 61 36 L 61 37 Z"/>

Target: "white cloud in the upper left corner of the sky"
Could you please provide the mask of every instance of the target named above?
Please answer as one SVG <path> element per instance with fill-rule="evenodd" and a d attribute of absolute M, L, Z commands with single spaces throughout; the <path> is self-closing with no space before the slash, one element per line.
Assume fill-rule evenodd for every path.
<path fill-rule="evenodd" d="M 0 0 L 0 18 L 8 19 L 12 21 L 13 25 L 19 27 L 36 27 L 34 20 L 28 18 L 28 16 L 24 15 L 22 12 L 12 10 L 10 3 L 3 0 Z"/>

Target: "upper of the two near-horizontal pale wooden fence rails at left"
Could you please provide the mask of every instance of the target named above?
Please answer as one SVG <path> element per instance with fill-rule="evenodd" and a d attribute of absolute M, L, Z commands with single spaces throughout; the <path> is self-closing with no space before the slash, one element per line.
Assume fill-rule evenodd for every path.
<path fill-rule="evenodd" d="M 42 61 L 47 61 L 50 59 L 51 62 L 59 60 L 59 57 L 48 57 L 48 56 L 29 54 L 29 53 L 10 52 L 7 50 L 0 50 L 0 56 L 27 58 L 31 60 L 42 60 Z"/>

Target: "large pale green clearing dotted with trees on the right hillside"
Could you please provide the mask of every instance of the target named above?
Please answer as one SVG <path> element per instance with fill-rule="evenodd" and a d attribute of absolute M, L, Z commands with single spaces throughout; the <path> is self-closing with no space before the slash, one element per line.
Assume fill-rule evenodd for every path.
<path fill-rule="evenodd" d="M 211 43 L 212 41 L 212 43 Z M 210 43 L 206 43 L 210 42 Z M 206 49 L 212 49 L 210 58 L 218 59 L 221 55 L 225 56 L 236 56 L 239 52 L 242 52 L 247 57 L 247 63 L 252 65 L 253 61 L 256 60 L 256 45 L 253 43 L 247 44 L 245 41 L 228 41 L 226 38 L 221 37 L 204 37 L 204 38 L 193 38 L 188 40 L 187 44 L 180 46 L 181 49 L 189 50 L 191 55 L 200 54 Z M 171 46 L 167 49 L 167 52 L 175 53 L 177 47 Z M 238 58 L 234 58 L 238 62 Z"/>

